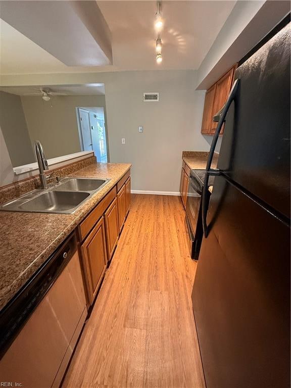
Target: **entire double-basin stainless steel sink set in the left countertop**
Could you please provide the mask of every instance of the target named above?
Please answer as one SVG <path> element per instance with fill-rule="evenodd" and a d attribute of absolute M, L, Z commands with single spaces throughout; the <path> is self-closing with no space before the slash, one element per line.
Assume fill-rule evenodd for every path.
<path fill-rule="evenodd" d="M 110 179 L 66 177 L 46 190 L 33 190 L 0 206 L 0 210 L 72 214 Z"/>

